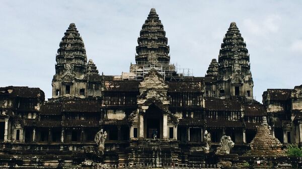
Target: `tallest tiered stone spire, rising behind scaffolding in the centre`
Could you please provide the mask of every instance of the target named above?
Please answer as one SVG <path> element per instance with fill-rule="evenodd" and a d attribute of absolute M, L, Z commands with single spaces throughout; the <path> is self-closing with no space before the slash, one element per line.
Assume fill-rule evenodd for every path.
<path fill-rule="evenodd" d="M 164 26 L 159 20 L 159 16 L 155 9 L 152 8 L 150 13 L 142 25 L 140 36 L 137 39 L 138 46 L 136 46 L 135 61 L 137 65 L 144 64 L 145 62 L 160 62 L 169 64 L 170 48 L 168 38 L 165 37 L 166 32 Z"/>

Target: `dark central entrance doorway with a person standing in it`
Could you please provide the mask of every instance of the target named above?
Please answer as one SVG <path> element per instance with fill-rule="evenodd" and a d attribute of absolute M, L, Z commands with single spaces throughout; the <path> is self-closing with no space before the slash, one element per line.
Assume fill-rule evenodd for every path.
<path fill-rule="evenodd" d="M 149 106 L 145 115 L 144 115 L 144 135 L 145 138 L 154 138 L 154 134 L 157 135 L 157 138 L 162 138 L 163 134 L 163 113 L 155 105 Z"/>

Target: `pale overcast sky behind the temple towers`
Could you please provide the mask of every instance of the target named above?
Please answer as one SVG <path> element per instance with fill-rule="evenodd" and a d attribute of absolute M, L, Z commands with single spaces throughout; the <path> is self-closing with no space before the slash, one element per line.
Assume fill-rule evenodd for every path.
<path fill-rule="evenodd" d="M 302 1 L 0 1 L 0 86 L 39 87 L 51 97 L 55 55 L 70 23 L 100 73 L 135 62 L 142 24 L 155 8 L 171 63 L 204 76 L 236 22 L 250 54 L 254 96 L 302 84 Z"/>

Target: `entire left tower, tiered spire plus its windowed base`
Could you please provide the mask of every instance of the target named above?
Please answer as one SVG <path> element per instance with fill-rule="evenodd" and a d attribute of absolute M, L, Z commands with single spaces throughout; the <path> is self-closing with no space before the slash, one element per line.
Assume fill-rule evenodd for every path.
<path fill-rule="evenodd" d="M 69 25 L 59 46 L 52 79 L 52 97 L 85 96 L 87 56 L 75 24 Z"/>

